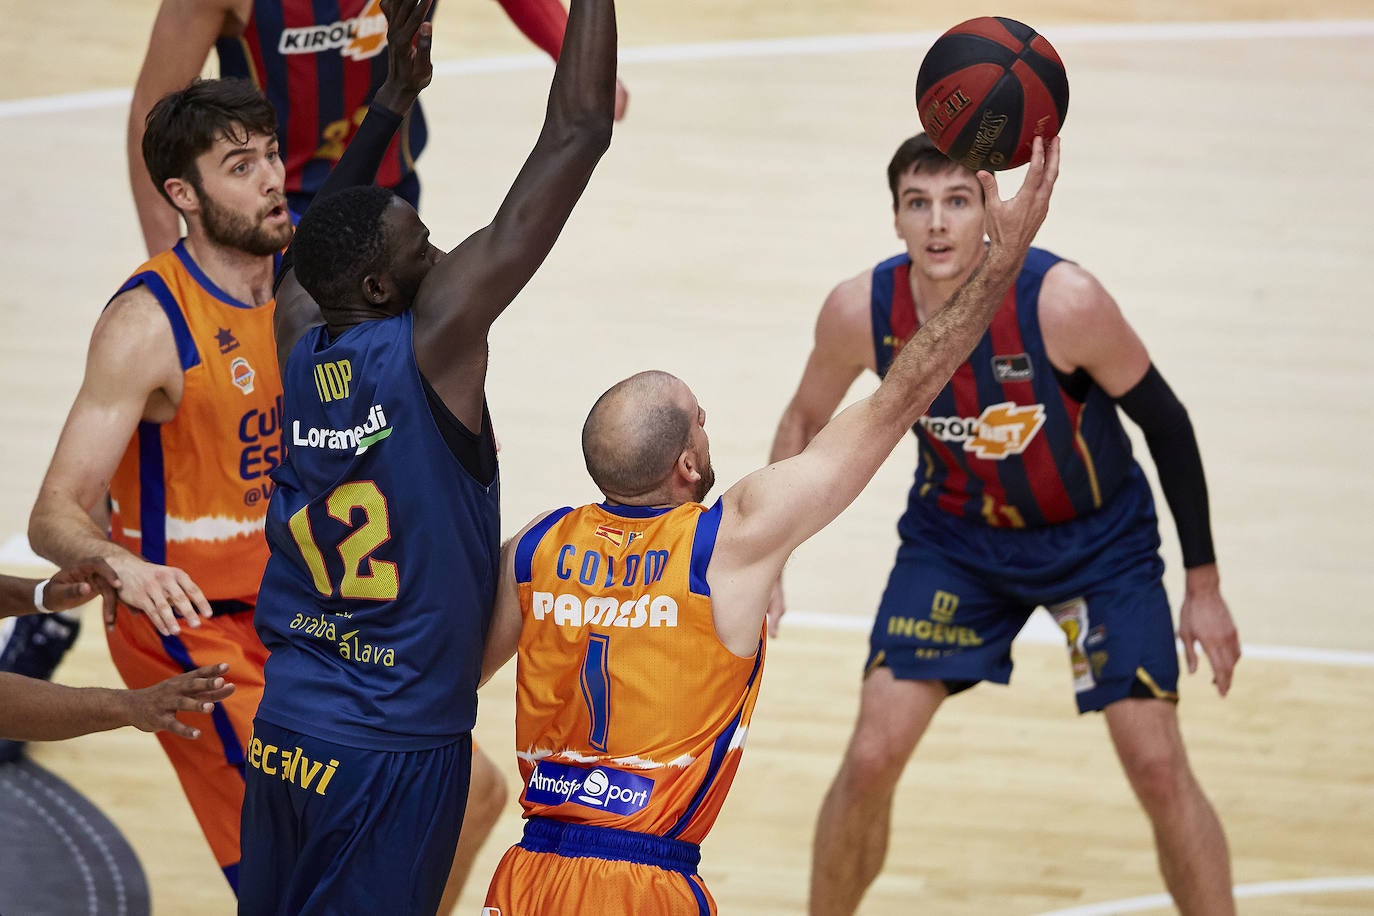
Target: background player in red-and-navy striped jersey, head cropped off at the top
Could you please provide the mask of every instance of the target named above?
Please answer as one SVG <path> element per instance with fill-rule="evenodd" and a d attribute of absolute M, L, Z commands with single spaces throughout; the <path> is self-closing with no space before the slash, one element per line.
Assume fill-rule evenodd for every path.
<path fill-rule="evenodd" d="M 567 26 L 559 0 L 499 3 L 530 41 L 558 59 Z M 221 77 L 251 80 L 276 108 L 287 201 L 304 213 L 386 78 L 386 16 L 379 0 L 162 0 L 128 125 L 131 187 L 150 255 L 172 247 L 179 232 L 176 213 L 148 191 L 139 155 L 143 119 L 154 102 L 201 73 L 212 48 Z M 616 91 L 618 118 L 628 95 L 618 82 Z M 420 190 L 415 159 L 426 139 L 416 107 L 378 169 L 378 184 L 412 206 Z"/>

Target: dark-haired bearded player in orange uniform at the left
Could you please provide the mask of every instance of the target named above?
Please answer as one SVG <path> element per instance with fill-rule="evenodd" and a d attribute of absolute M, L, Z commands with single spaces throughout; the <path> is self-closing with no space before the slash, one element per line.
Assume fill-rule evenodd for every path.
<path fill-rule="evenodd" d="M 139 268 L 96 323 L 29 519 L 40 555 L 99 556 L 118 574 L 107 637 L 128 687 L 212 662 L 234 670 L 234 695 L 187 717 L 202 740 L 158 736 L 231 886 L 267 656 L 253 632 L 262 514 L 280 461 L 272 271 L 291 220 L 275 130 L 272 106 L 243 81 L 196 82 L 153 110 L 144 158 L 187 238 Z M 89 515 L 106 493 L 109 534 Z"/>

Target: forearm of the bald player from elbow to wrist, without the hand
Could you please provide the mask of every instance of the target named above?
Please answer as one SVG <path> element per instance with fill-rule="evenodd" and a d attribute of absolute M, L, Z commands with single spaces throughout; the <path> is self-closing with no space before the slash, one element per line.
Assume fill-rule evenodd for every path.
<path fill-rule="evenodd" d="M 988 330 L 1025 255 L 1025 247 L 989 249 L 949 302 L 901 347 L 872 394 L 885 419 L 905 430 L 925 413 Z"/>

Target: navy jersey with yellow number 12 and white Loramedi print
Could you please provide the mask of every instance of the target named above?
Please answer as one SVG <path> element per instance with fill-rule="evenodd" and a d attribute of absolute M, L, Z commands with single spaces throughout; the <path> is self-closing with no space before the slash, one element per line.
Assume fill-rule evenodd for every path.
<path fill-rule="evenodd" d="M 286 459 L 267 514 L 258 717 L 378 750 L 473 728 L 500 553 L 497 486 L 430 413 L 409 312 L 287 357 Z"/>

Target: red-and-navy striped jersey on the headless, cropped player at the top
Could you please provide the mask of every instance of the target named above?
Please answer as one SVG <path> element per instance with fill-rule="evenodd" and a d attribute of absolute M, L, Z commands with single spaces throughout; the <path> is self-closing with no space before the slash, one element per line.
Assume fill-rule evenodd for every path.
<path fill-rule="evenodd" d="M 287 194 L 319 191 L 386 81 L 379 0 L 254 0 L 243 34 L 220 38 L 214 49 L 220 76 L 251 80 L 276 108 Z M 376 183 L 394 188 L 407 179 L 426 136 L 415 104 Z"/>

